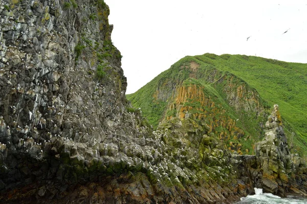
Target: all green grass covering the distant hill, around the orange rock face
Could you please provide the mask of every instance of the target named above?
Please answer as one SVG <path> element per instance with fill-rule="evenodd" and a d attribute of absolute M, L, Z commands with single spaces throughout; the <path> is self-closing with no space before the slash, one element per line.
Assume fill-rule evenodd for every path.
<path fill-rule="evenodd" d="M 199 64 L 199 68 L 190 69 L 190 62 Z M 216 103 L 226 110 L 227 116 L 239 118 L 236 125 L 245 131 L 245 136 L 249 135 L 249 139 L 239 142 L 242 142 L 244 148 L 249 146 L 248 149 L 252 150 L 254 142 L 261 140 L 264 135 L 259 124 L 266 122 L 267 115 L 257 115 L 243 109 L 235 110 L 230 106 L 225 92 L 226 88 L 230 89 L 227 84 L 230 78 L 236 87 L 242 85 L 249 91 L 259 93 L 258 101 L 261 107 L 264 107 L 264 113 L 271 112 L 273 105 L 278 104 L 292 152 L 307 153 L 307 147 L 304 145 L 307 143 L 306 64 L 246 55 L 218 56 L 206 53 L 194 57 L 186 56 L 136 93 L 127 95 L 127 98 L 133 106 L 141 107 L 144 116 L 153 127 L 157 127 L 165 115 L 174 115 L 166 110 L 168 104 L 172 103 L 176 88 L 193 84 L 204 86 L 205 93 L 211 95 Z M 252 97 L 252 93 L 246 97 Z M 185 104 L 191 107 L 199 106 L 196 101 L 187 103 L 191 103 Z"/>

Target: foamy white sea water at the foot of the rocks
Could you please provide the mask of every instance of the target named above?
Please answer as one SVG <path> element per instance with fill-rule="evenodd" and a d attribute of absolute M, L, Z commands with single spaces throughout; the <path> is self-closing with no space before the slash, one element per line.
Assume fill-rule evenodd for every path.
<path fill-rule="evenodd" d="M 306 198 L 299 198 L 294 196 L 288 196 L 286 198 L 281 198 L 272 193 L 262 193 L 262 189 L 255 188 L 255 195 L 248 195 L 242 197 L 241 201 L 237 202 L 240 204 L 275 204 L 275 203 L 289 203 L 289 204 L 301 204 L 307 203 Z"/>

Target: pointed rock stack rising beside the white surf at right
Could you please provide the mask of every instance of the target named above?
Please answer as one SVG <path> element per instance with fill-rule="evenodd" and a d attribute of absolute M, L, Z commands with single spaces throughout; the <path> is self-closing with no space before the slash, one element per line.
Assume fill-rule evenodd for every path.
<path fill-rule="evenodd" d="M 261 186 L 264 192 L 284 196 L 287 194 L 285 190 L 291 190 L 306 195 L 306 191 L 300 192 L 296 188 L 306 190 L 304 185 L 298 184 L 306 182 L 307 169 L 302 158 L 289 151 L 277 104 L 265 125 L 264 139 L 255 144 L 255 152 L 257 172 L 261 174 L 256 174 L 259 178 L 256 185 Z"/>

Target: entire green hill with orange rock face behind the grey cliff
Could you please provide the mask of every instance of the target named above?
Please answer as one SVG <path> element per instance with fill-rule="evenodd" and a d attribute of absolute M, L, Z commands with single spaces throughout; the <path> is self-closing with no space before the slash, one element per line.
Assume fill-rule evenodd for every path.
<path fill-rule="evenodd" d="M 307 153 L 307 65 L 246 55 L 186 56 L 134 94 L 153 127 L 174 117 L 206 123 L 240 154 L 253 153 L 274 104 L 292 152 Z"/>

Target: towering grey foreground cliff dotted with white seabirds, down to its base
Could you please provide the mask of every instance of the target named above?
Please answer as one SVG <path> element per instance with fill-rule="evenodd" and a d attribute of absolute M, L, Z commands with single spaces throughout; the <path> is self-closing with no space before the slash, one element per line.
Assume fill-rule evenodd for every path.
<path fill-rule="evenodd" d="M 0 200 L 238 199 L 236 179 L 214 168 L 207 179 L 195 175 L 196 149 L 175 161 L 180 155 L 129 107 L 108 13 L 103 1 L 1 2 Z M 215 146 L 210 154 L 226 159 Z"/>

